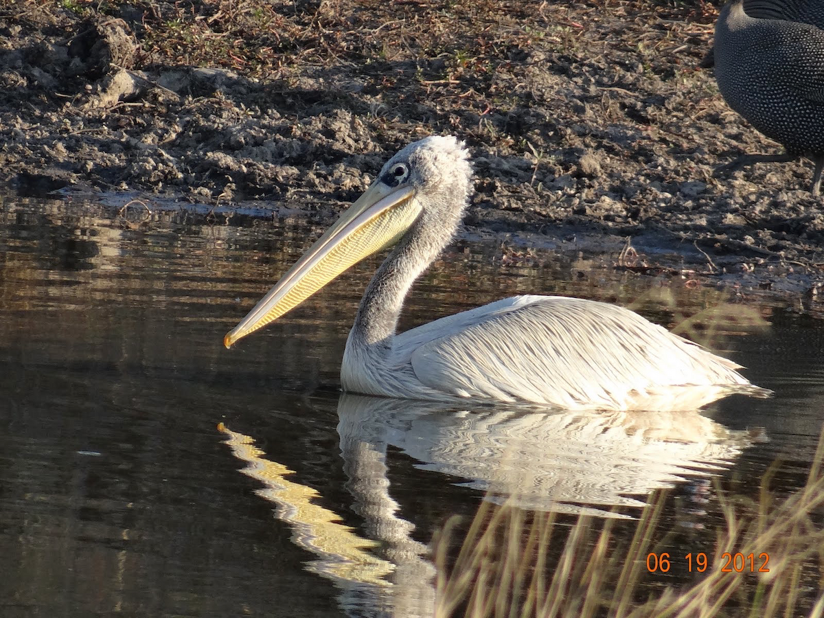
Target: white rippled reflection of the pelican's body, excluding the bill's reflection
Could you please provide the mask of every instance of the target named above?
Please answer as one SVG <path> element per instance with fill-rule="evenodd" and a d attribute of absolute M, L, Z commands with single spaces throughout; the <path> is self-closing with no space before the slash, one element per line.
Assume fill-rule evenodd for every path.
<path fill-rule="evenodd" d="M 655 489 L 682 483 L 698 489 L 701 479 L 728 469 L 751 442 L 764 439 L 697 410 L 535 410 L 513 404 L 467 409 L 343 393 L 338 418 L 347 488 L 356 494 L 389 485 L 374 472 L 385 473 L 385 466 L 369 461 L 386 458 L 391 445 L 415 467 L 437 471 L 488 499 L 597 517 L 637 517 Z M 367 511 L 382 501 L 361 504 L 355 510 L 368 518 L 374 513 Z"/>

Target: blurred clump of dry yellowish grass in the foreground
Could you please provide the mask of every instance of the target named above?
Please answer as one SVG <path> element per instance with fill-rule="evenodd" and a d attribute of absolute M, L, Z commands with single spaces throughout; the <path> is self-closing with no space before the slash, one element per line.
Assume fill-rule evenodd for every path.
<path fill-rule="evenodd" d="M 784 499 L 770 490 L 775 466 L 761 480 L 757 504 L 716 485 L 723 526 L 700 581 L 645 585 L 646 557 L 662 530 L 664 494 L 637 522 L 627 545 L 615 534 L 619 520 L 582 515 L 572 527 L 553 513 L 525 513 L 510 503 L 482 503 L 454 562 L 447 522 L 435 545 L 436 616 L 467 618 L 824 618 L 824 436 L 803 488 Z M 813 514 L 819 514 L 819 521 Z M 724 553 L 769 555 L 769 573 L 724 572 Z M 557 557 L 555 557 L 557 556 Z M 747 563 L 745 563 L 747 564 Z M 657 597 L 648 598 L 658 592 Z M 816 592 L 817 591 L 817 592 Z M 804 608 L 807 609 L 804 609 Z"/>

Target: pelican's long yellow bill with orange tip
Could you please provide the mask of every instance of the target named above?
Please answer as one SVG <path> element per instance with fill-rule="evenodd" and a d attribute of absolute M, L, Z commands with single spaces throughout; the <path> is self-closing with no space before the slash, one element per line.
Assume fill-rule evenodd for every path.
<path fill-rule="evenodd" d="M 377 180 L 344 212 L 283 279 L 223 338 L 238 339 L 276 320 L 363 258 L 394 245 L 420 213 L 414 189 Z"/>

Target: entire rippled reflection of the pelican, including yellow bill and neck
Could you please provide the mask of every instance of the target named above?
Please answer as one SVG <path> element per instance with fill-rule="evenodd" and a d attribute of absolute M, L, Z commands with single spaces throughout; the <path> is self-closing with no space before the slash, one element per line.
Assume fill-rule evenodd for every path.
<path fill-rule="evenodd" d="M 396 501 L 421 483 L 433 484 L 436 495 L 434 488 L 456 483 L 517 508 L 624 519 L 638 516 L 653 490 L 688 484 L 667 521 L 691 527 L 705 514 L 706 478 L 732 466 L 757 438 L 694 410 L 573 412 L 512 404 L 467 410 L 454 402 L 344 393 L 338 416 L 344 487 L 351 495 L 344 513 L 317 503 L 321 496 L 302 485 L 302 475 L 272 460 L 253 438 L 221 428 L 232 452 L 248 464 L 243 474 L 264 485 L 257 493 L 292 527 L 293 542 L 316 556 L 307 569 L 339 588 L 346 616 L 437 615 L 435 570 L 427 546 L 415 538 L 428 536 L 428 525 L 415 531 L 422 518 L 405 518 Z M 428 472 L 390 478 L 392 451 Z M 331 503 L 340 508 L 346 500 Z M 344 524 L 349 512 L 362 518 L 356 529 Z M 511 541 L 526 542 L 526 535 L 514 534 Z"/>

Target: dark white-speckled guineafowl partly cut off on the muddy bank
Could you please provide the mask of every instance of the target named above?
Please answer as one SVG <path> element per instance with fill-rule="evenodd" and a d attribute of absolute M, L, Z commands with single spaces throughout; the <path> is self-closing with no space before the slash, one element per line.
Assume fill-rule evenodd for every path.
<path fill-rule="evenodd" d="M 784 146 L 782 154 L 746 154 L 719 168 L 760 162 L 815 162 L 812 194 L 824 168 L 824 2 L 730 0 L 715 25 L 719 90 L 733 110 Z"/>

